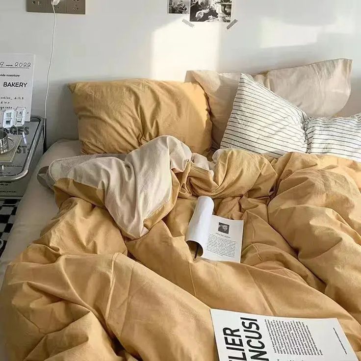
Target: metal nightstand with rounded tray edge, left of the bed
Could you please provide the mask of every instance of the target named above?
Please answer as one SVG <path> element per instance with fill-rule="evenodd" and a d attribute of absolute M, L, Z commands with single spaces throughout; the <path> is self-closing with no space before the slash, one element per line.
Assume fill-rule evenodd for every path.
<path fill-rule="evenodd" d="M 21 140 L 14 160 L 11 163 L 0 163 L 0 199 L 23 196 L 28 175 L 43 154 L 44 119 L 31 117 L 30 122 L 23 127 L 8 130 L 10 134 L 24 133 L 25 137 Z"/>

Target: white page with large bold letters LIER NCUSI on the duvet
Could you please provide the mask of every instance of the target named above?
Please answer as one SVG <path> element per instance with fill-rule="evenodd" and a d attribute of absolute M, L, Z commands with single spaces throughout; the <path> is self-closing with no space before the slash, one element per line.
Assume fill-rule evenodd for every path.
<path fill-rule="evenodd" d="M 210 312 L 220 361 L 358 361 L 337 319 Z"/>

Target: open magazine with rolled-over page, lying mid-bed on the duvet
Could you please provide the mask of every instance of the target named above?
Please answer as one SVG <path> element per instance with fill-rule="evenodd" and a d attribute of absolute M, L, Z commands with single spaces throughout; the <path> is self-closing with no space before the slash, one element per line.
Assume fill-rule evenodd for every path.
<path fill-rule="evenodd" d="M 241 261 L 243 221 L 213 215 L 210 197 L 199 197 L 189 222 L 185 241 L 195 243 L 197 255 L 215 261 Z"/>

